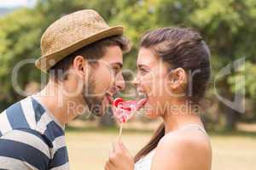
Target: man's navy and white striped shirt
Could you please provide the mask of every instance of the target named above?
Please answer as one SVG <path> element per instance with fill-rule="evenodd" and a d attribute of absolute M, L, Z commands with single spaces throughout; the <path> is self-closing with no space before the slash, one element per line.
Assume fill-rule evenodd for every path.
<path fill-rule="evenodd" d="M 27 97 L 0 114 L 0 169 L 68 170 L 64 127 Z"/>

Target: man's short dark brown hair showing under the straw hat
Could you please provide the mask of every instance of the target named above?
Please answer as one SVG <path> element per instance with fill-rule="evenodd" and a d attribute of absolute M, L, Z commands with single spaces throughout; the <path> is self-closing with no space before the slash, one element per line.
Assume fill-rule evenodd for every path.
<path fill-rule="evenodd" d="M 65 75 L 65 72 L 70 68 L 73 59 L 76 56 L 82 55 L 84 59 L 101 59 L 106 53 L 106 49 L 111 46 L 119 46 L 124 52 L 128 52 L 131 48 L 129 39 L 124 36 L 104 38 L 93 42 L 84 48 L 80 48 L 73 54 L 69 54 L 64 59 L 61 59 L 61 61 L 49 69 L 49 77 L 54 77 L 55 80 L 65 80 L 67 77 L 63 77 L 63 75 Z"/>

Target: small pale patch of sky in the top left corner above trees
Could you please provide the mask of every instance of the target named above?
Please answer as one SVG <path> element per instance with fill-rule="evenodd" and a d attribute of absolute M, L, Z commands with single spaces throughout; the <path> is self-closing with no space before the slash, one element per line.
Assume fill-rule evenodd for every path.
<path fill-rule="evenodd" d="M 33 7 L 37 0 L 0 0 L 0 8 Z"/>

